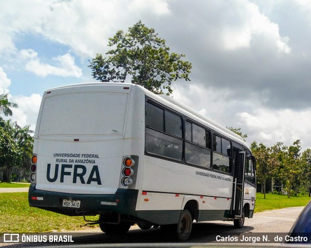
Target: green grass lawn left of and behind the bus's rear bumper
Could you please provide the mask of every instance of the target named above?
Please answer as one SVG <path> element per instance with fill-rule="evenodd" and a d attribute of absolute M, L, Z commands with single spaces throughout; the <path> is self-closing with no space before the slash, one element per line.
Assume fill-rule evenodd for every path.
<path fill-rule="evenodd" d="M 86 224 L 83 217 L 69 217 L 30 207 L 27 192 L 0 193 L 0 223 L 0 233 L 76 230 Z"/>

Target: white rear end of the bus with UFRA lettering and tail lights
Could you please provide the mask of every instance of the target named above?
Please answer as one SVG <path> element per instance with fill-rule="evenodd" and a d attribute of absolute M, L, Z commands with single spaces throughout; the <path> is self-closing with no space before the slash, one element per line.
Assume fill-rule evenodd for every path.
<path fill-rule="evenodd" d="M 133 122 L 129 113 L 132 88 L 97 83 L 44 93 L 34 137 L 30 206 L 69 216 L 115 213 L 118 219 L 118 214 L 135 214 L 135 142 L 142 139 L 131 126 L 139 128 L 143 120 Z"/>

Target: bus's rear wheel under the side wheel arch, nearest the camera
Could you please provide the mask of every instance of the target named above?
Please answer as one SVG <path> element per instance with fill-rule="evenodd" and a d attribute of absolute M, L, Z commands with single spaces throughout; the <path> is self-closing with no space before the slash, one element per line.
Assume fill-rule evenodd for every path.
<path fill-rule="evenodd" d="M 179 218 L 179 222 L 177 224 L 177 239 L 178 241 L 186 241 L 191 234 L 192 230 L 192 216 L 189 210 L 184 210 L 181 213 L 181 216 Z"/>

